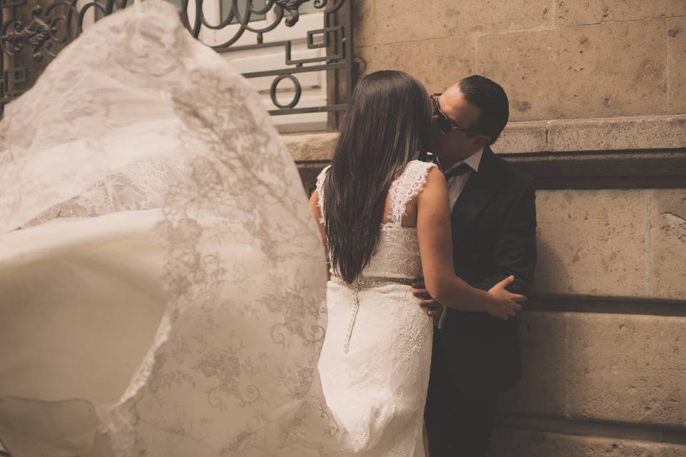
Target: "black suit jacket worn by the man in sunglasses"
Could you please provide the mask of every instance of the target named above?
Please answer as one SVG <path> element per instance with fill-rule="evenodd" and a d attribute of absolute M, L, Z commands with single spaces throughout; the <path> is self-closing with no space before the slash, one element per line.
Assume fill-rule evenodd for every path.
<path fill-rule="evenodd" d="M 536 264 L 532 178 L 487 147 L 452 210 L 454 269 L 487 290 L 515 275 L 509 291 L 531 290 Z M 465 398 L 492 396 L 521 377 L 517 319 L 447 310 L 439 332 L 446 363 Z"/>

